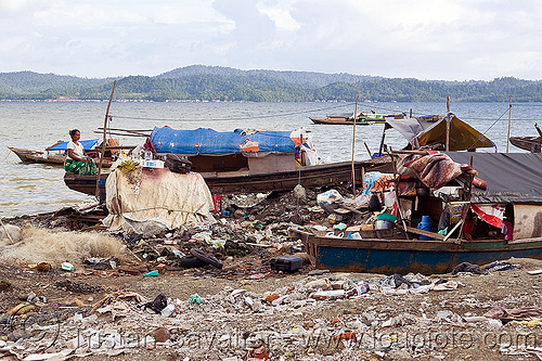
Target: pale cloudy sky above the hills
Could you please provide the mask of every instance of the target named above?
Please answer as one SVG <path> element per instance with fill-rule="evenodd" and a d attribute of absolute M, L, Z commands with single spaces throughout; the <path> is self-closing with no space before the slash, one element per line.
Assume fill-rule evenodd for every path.
<path fill-rule="evenodd" d="M 540 0 L 0 0 L 0 73 L 542 79 Z"/>

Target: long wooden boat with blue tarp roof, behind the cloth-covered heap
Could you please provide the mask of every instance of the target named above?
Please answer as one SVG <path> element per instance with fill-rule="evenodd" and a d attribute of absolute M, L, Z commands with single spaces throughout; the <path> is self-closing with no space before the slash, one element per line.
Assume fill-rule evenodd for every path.
<path fill-rule="evenodd" d="M 155 128 L 146 144 L 156 158 L 177 154 L 191 162 L 215 194 L 256 193 L 335 185 L 352 179 L 352 163 L 319 164 L 310 133 L 295 131 L 217 132 L 211 129 L 175 130 Z M 137 153 L 137 150 L 136 150 Z M 363 169 L 390 169 L 387 159 L 354 162 L 361 179 Z M 94 194 L 92 176 L 66 173 L 66 185 Z"/>

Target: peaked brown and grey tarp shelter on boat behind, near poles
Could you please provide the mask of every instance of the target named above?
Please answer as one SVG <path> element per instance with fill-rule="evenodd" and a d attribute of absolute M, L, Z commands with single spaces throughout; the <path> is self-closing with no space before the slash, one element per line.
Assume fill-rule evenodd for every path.
<path fill-rule="evenodd" d="M 399 131 L 413 147 L 446 144 L 448 116 L 429 115 L 416 118 L 388 119 L 386 123 Z M 450 113 L 450 151 L 494 147 L 489 138 Z"/>

